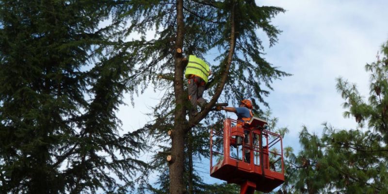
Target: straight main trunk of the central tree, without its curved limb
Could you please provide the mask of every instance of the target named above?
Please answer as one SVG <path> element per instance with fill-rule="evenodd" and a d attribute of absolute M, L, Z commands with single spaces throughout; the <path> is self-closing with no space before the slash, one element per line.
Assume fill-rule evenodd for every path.
<path fill-rule="evenodd" d="M 183 0 L 177 0 L 177 39 L 175 47 L 182 49 L 184 36 L 183 23 Z M 175 55 L 178 56 L 178 55 Z M 171 137 L 171 156 L 173 162 L 170 164 L 170 193 L 184 194 L 185 185 L 183 182 L 183 161 L 184 161 L 184 136 L 186 131 L 186 107 L 183 89 L 183 65 L 181 55 L 175 58 L 174 93 L 175 93 L 175 118 L 174 135 Z"/>

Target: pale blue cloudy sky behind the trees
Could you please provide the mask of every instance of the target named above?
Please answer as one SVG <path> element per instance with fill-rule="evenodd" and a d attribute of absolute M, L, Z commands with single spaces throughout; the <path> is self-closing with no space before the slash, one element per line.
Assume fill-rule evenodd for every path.
<path fill-rule="evenodd" d="M 278 43 L 266 48 L 268 62 L 291 73 L 275 81 L 274 91 L 266 98 L 279 118 L 279 127 L 288 127 L 286 146 L 298 150 L 302 125 L 322 133 L 322 123 L 340 129 L 355 129 L 354 118 L 343 118 L 344 100 L 336 90 L 338 77 L 358 85 L 369 94 L 366 63 L 376 60 L 377 51 L 388 40 L 388 0 L 260 0 L 261 5 L 287 10 L 273 19 L 283 32 Z M 266 40 L 263 38 L 263 40 Z M 135 107 L 121 106 L 118 113 L 123 129 L 142 127 L 147 107 L 156 103 L 157 94 L 147 90 L 135 98 Z M 129 98 L 126 98 L 130 104 Z M 205 169 L 206 171 L 208 169 Z"/>

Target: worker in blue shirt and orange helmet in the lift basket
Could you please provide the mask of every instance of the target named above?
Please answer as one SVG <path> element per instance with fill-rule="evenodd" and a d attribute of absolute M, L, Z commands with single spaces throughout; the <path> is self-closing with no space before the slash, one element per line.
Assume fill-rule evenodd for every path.
<path fill-rule="evenodd" d="M 242 127 L 246 122 L 251 120 L 251 118 L 253 117 L 252 109 L 253 109 L 252 101 L 248 99 L 243 99 L 240 102 L 239 107 L 216 107 L 217 111 L 224 110 L 227 112 L 236 113 L 237 120 L 239 121 L 239 123 L 237 123 L 237 126 L 240 126 L 240 127 Z M 249 130 L 244 129 L 244 135 L 245 135 L 244 144 L 250 145 Z M 251 158 L 250 156 L 251 156 L 250 150 L 245 149 L 245 162 L 248 162 L 248 163 L 250 162 L 250 158 Z"/>

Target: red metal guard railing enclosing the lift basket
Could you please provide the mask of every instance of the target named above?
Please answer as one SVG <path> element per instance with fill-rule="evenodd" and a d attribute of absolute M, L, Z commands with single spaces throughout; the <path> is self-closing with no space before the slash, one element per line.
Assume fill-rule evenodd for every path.
<path fill-rule="evenodd" d="M 235 145 L 236 137 L 232 136 L 231 129 L 241 122 L 230 118 L 226 119 L 224 125 L 220 125 L 221 122 L 216 123 L 210 129 L 210 169 L 223 161 L 224 157 L 247 162 L 244 161 L 244 155 L 249 153 L 250 161 L 247 163 L 255 166 L 263 164 L 262 167 L 266 169 L 284 174 L 283 143 L 279 134 L 262 128 L 244 127 L 249 130 L 249 143 L 245 144 L 242 141 L 242 145 L 238 146 Z"/>

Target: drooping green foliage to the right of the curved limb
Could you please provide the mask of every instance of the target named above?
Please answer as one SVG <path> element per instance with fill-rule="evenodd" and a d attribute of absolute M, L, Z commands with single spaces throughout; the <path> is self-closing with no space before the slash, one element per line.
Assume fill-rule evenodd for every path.
<path fill-rule="evenodd" d="M 284 10 L 272 6 L 258 6 L 253 0 L 239 0 L 237 4 L 236 54 L 233 56 L 234 63 L 228 76 L 225 93 L 230 94 L 227 96 L 228 100 L 250 98 L 255 109 L 259 109 L 259 103 L 267 106 L 263 96 L 269 94 L 269 91 L 263 89 L 263 85 L 272 89 L 271 83 L 274 79 L 290 75 L 262 58 L 264 47 L 258 36 L 258 31 L 262 30 L 267 34 L 270 46 L 274 45 L 277 42 L 277 34 L 281 31 L 270 22 Z M 219 80 L 215 78 L 214 81 Z"/>

